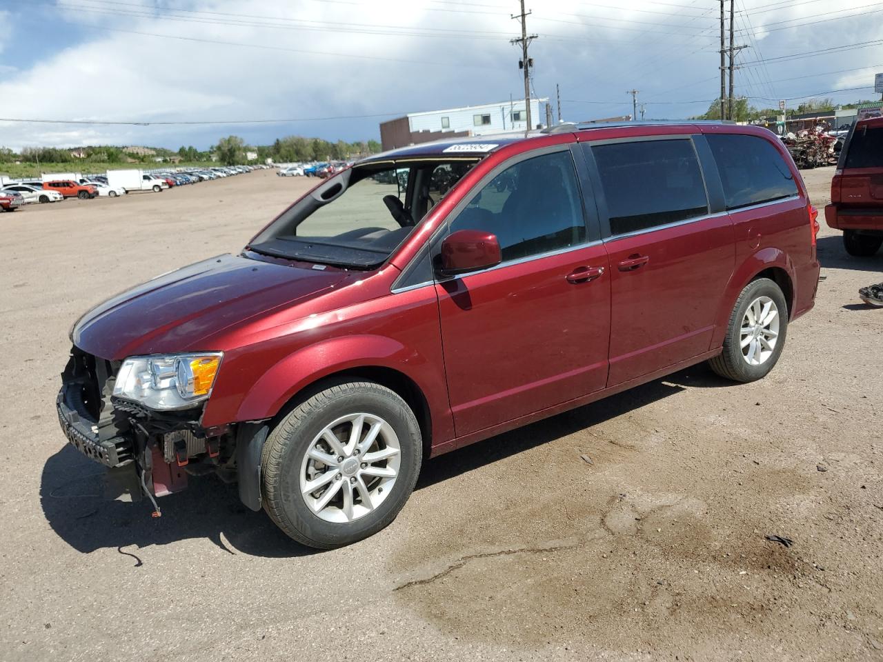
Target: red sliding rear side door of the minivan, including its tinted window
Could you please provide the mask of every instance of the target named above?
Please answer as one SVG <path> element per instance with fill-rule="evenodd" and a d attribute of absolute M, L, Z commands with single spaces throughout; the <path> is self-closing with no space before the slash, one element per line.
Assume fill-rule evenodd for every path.
<path fill-rule="evenodd" d="M 727 214 L 709 214 L 689 137 L 584 148 L 603 192 L 615 386 L 708 350 L 736 260 L 734 232 Z"/>

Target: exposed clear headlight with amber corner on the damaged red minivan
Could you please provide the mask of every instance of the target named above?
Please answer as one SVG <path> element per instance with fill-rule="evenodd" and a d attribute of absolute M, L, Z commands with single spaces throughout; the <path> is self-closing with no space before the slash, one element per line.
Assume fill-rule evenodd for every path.
<path fill-rule="evenodd" d="M 117 373 L 113 395 L 152 410 L 185 410 L 206 400 L 223 352 L 129 357 Z"/>

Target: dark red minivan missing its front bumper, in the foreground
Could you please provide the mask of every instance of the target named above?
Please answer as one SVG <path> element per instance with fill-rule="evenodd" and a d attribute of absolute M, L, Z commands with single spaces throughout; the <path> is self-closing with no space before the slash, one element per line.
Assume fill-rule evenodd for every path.
<path fill-rule="evenodd" d="M 427 457 L 701 361 L 765 376 L 813 305 L 818 228 L 755 127 L 405 147 L 87 312 L 58 415 L 155 515 L 216 472 L 291 538 L 345 545 Z"/>

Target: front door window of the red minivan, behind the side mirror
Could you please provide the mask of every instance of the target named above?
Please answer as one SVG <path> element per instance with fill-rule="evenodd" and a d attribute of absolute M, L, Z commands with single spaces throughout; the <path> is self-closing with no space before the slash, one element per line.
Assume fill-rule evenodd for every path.
<path fill-rule="evenodd" d="M 451 222 L 450 231 L 458 229 L 493 232 L 504 261 L 584 243 L 570 152 L 535 156 L 503 170 Z"/>

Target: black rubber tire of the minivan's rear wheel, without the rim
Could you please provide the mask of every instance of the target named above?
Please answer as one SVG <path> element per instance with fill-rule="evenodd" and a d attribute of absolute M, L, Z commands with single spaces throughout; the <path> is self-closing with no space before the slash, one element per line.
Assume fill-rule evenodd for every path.
<path fill-rule="evenodd" d="M 778 309 L 779 329 L 773 353 L 766 357 L 760 365 L 750 365 L 743 356 L 743 349 L 740 343 L 742 338 L 742 321 L 749 305 L 757 300 L 758 297 L 769 297 L 773 300 L 774 305 Z M 733 312 L 729 318 L 727 335 L 724 337 L 723 351 L 721 351 L 720 355 L 709 359 L 708 365 L 711 366 L 714 372 L 728 380 L 744 383 L 763 379 L 773 370 L 776 362 L 779 360 L 787 335 L 788 303 L 785 301 L 785 296 L 781 293 L 781 289 L 775 282 L 768 278 L 758 278 L 748 283 L 736 299 L 736 305 L 733 307 Z"/>

